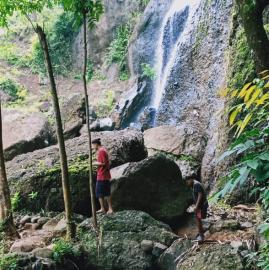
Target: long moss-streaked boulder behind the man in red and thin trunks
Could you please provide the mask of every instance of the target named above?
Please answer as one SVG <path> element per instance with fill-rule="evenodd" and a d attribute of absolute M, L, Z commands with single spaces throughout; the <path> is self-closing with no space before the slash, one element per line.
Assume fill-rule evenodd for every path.
<path fill-rule="evenodd" d="M 141 132 L 126 129 L 93 133 L 109 151 L 112 167 L 146 157 Z M 88 190 L 88 138 L 86 135 L 66 141 L 70 186 L 75 212 L 90 213 Z M 57 146 L 24 154 L 7 162 L 12 194 L 19 193 L 19 203 L 32 210 L 62 211 L 63 195 Z M 36 196 L 31 199 L 29 194 Z"/>

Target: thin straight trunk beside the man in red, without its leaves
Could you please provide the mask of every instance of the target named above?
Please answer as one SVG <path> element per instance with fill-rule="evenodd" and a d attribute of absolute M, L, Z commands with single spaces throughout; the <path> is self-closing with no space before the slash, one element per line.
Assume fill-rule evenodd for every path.
<path fill-rule="evenodd" d="M 88 132 L 88 139 L 89 139 L 89 186 L 90 186 L 90 195 L 91 195 L 93 225 L 97 229 L 96 197 L 95 197 L 95 192 L 94 192 L 93 166 L 92 166 L 92 137 L 91 137 L 91 129 L 90 129 L 89 96 L 88 96 L 88 88 L 87 88 L 88 50 L 87 50 L 87 12 L 86 11 L 83 12 L 83 41 L 84 41 L 83 86 L 84 86 L 84 94 L 85 94 L 87 132 Z"/>

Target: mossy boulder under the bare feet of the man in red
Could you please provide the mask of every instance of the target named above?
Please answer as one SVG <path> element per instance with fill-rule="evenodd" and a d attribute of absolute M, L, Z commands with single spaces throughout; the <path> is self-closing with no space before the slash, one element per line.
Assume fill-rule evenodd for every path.
<path fill-rule="evenodd" d="M 139 211 L 102 215 L 98 222 L 102 228 L 101 241 L 96 237 L 90 219 L 79 226 L 82 231 L 80 240 L 85 248 L 84 269 L 157 269 L 154 251 L 152 248 L 145 251 L 143 247 L 145 240 L 157 249 L 158 246 L 170 246 L 178 238 L 168 225 Z"/>

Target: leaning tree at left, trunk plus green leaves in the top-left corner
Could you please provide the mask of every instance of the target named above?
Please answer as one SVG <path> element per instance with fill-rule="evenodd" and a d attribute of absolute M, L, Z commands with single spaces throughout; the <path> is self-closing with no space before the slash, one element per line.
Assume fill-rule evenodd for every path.
<path fill-rule="evenodd" d="M 33 12 L 40 12 L 44 8 L 44 6 L 51 7 L 52 1 L 45 0 L 1 0 L 0 4 L 0 23 L 2 25 L 7 25 L 7 18 L 11 16 L 14 12 L 21 12 L 26 18 L 30 21 L 34 31 L 37 33 L 39 37 L 39 41 L 41 47 L 44 52 L 45 63 L 47 68 L 48 77 L 50 80 L 50 91 L 52 96 L 54 114 L 56 119 L 56 133 L 58 139 L 59 146 L 59 154 L 60 154 L 60 163 L 61 163 L 61 173 L 62 173 L 62 187 L 63 187 L 63 195 L 64 195 L 64 206 L 65 206 L 65 214 L 67 221 L 67 236 L 68 238 L 75 237 L 75 223 L 73 221 L 73 212 L 72 212 L 72 203 L 71 203 L 71 192 L 70 192 L 70 184 L 69 184 L 69 174 L 68 174 L 68 163 L 67 163 L 67 155 L 65 149 L 64 135 L 63 135 L 63 125 L 60 113 L 60 106 L 57 94 L 57 87 L 55 83 L 55 77 L 53 72 L 53 65 L 50 57 L 49 46 L 45 31 L 38 24 L 34 24 L 29 14 Z"/>

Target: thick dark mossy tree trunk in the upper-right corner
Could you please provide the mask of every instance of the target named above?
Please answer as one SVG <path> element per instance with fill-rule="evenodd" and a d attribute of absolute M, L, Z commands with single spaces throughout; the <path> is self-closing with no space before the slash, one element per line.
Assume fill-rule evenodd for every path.
<path fill-rule="evenodd" d="M 269 69 L 269 40 L 263 25 L 265 0 L 236 0 L 257 73 Z"/>

